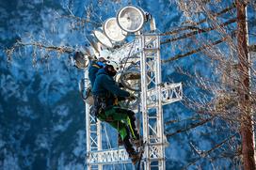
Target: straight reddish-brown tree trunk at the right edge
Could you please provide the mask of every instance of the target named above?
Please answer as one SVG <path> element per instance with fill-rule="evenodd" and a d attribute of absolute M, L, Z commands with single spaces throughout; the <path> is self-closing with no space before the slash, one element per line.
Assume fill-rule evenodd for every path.
<path fill-rule="evenodd" d="M 236 0 L 237 8 L 237 46 L 239 61 L 240 89 L 239 106 L 241 109 L 242 156 L 245 170 L 255 170 L 253 131 L 251 122 L 251 103 L 249 99 L 249 55 L 246 4 Z"/>

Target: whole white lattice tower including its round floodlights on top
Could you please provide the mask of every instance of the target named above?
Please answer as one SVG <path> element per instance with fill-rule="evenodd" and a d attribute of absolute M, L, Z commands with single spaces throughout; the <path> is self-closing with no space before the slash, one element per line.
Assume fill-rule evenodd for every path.
<path fill-rule="evenodd" d="M 144 23 L 151 23 L 149 31 L 142 31 Z M 164 134 L 163 105 L 183 98 L 182 84 L 163 83 L 161 77 L 160 37 L 155 33 L 152 16 L 141 8 L 128 6 L 121 8 L 117 18 L 104 23 L 104 30 L 93 31 L 94 37 L 106 47 L 104 53 L 99 50 L 97 41 L 88 38 L 90 45 L 99 56 L 106 54 L 109 60 L 120 63 L 123 70 L 121 74 L 133 68 L 137 71 L 139 85 L 128 84 L 129 89 L 136 89 L 138 94 L 136 114 L 141 117 L 142 131 L 145 142 L 141 167 L 145 170 L 166 169 L 165 147 L 167 138 Z M 117 36 L 119 35 L 120 36 Z M 118 43 L 115 47 L 113 41 L 121 41 L 129 34 L 136 33 L 135 39 L 127 43 Z M 111 50 L 108 50 L 111 48 Z M 97 55 L 97 54 L 96 54 Z M 132 68 L 132 69 L 131 69 Z M 138 72 L 138 74 L 137 74 Z M 125 77 L 120 75 L 120 77 Z M 85 88 L 88 84 L 88 70 L 85 70 Z M 131 81 L 127 81 L 131 82 Z M 133 86 L 135 85 L 135 86 Z M 127 87 L 127 85 L 124 85 Z M 89 97 L 87 97 L 89 98 Z M 87 99 L 88 100 L 88 99 Z M 103 148 L 103 122 L 96 120 L 89 113 L 91 105 L 86 102 L 87 123 L 87 166 L 88 169 L 104 169 L 104 165 L 131 163 L 123 147 Z M 105 132 L 106 133 L 106 132 Z M 105 137 L 109 140 L 109 137 Z"/>

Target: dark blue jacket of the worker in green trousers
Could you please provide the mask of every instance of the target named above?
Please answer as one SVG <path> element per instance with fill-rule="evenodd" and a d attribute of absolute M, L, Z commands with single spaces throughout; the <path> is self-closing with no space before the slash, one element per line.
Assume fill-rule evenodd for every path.
<path fill-rule="evenodd" d="M 129 92 L 120 89 L 113 77 L 109 76 L 104 69 L 98 70 L 92 93 L 107 98 L 107 105 L 113 103 L 114 95 L 123 98 L 130 96 Z"/>

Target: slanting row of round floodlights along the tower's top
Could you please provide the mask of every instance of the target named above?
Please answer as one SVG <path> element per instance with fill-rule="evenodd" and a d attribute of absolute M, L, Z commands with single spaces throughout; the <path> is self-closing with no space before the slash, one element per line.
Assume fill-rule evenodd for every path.
<path fill-rule="evenodd" d="M 86 36 L 89 46 L 80 49 L 84 54 L 84 59 L 104 57 L 106 60 L 114 59 L 117 61 L 117 57 L 120 56 L 112 55 L 121 46 L 127 44 L 125 42 L 127 36 L 141 31 L 144 23 L 148 22 L 149 16 L 149 13 L 134 6 L 120 8 L 116 17 L 105 20 L 101 27 L 93 30 L 90 35 Z"/>

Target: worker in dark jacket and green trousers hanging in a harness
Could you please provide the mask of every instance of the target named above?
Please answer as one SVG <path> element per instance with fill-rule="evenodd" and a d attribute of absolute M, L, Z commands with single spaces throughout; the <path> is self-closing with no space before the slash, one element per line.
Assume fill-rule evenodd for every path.
<path fill-rule="evenodd" d="M 131 141 L 134 142 L 136 147 L 142 144 L 136 130 L 136 116 L 133 111 L 120 108 L 115 96 L 127 100 L 135 100 L 135 97 L 129 92 L 120 89 L 119 85 L 114 81 L 113 77 L 118 70 L 120 68 L 116 62 L 107 61 L 104 69 L 98 71 L 92 88 L 94 98 L 93 112 L 100 120 L 109 123 L 119 131 L 123 145 L 135 164 L 140 156 Z"/>

